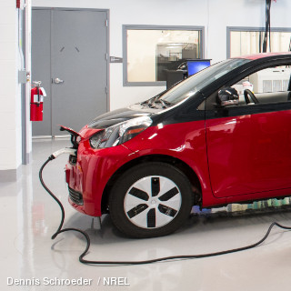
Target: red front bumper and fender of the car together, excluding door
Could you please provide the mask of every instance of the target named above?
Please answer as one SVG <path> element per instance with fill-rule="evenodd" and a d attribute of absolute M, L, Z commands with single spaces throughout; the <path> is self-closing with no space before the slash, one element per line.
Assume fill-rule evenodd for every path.
<path fill-rule="evenodd" d="M 85 140 L 78 148 L 76 165 L 67 164 L 65 170 L 68 186 L 83 194 L 84 206 L 69 199 L 70 204 L 86 215 L 101 216 L 102 195 L 115 171 L 137 157 L 155 155 L 176 157 L 190 166 L 202 186 L 204 206 L 216 204 L 208 175 L 205 133 L 205 121 L 151 126 L 124 145 L 115 146 L 114 151 L 93 149 Z M 219 200 L 222 204 L 226 201 Z"/>

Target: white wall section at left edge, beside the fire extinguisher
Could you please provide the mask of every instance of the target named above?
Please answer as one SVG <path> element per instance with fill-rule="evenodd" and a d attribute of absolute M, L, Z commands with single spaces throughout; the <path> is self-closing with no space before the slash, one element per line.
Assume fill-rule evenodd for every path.
<path fill-rule="evenodd" d="M 21 165 L 21 88 L 18 85 L 18 14 L 15 1 L 0 1 L 0 181 Z"/>

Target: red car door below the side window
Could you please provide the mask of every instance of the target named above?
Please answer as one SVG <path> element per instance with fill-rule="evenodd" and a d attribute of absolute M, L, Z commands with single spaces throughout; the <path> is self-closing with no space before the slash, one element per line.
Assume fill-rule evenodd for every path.
<path fill-rule="evenodd" d="M 282 80 L 282 84 L 286 82 Z M 206 110 L 207 156 L 214 196 L 256 196 L 291 188 L 290 92 L 282 86 L 277 92 L 275 89 L 256 92 L 258 104 L 246 105 L 241 95 L 239 105 Z"/>

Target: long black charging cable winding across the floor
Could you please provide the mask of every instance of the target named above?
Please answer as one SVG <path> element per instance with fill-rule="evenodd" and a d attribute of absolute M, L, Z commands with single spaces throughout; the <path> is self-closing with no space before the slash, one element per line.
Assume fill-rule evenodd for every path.
<path fill-rule="evenodd" d="M 268 227 L 266 235 L 262 239 L 260 239 L 258 242 L 256 242 L 255 244 L 252 244 L 249 246 L 237 247 L 237 248 L 233 248 L 233 249 L 229 249 L 229 250 L 225 250 L 225 251 L 220 251 L 220 252 L 215 252 L 215 253 L 200 254 L 200 255 L 165 256 L 165 257 L 158 257 L 158 258 L 154 258 L 151 260 L 145 260 L 145 261 L 93 261 L 93 260 L 86 260 L 84 257 L 90 248 L 90 237 L 88 236 L 87 233 L 85 233 L 85 231 L 78 229 L 78 228 L 70 227 L 70 228 L 62 229 L 63 225 L 64 225 L 64 221 L 65 221 L 64 206 L 62 205 L 60 200 L 58 200 L 56 198 L 56 196 L 52 193 L 52 191 L 45 185 L 45 182 L 43 180 L 43 170 L 44 170 L 45 166 L 53 159 L 55 159 L 55 156 L 53 156 L 53 155 L 49 156 L 48 159 L 45 161 L 44 165 L 41 166 L 41 168 L 39 170 L 39 180 L 40 180 L 42 186 L 44 186 L 44 188 L 48 192 L 48 194 L 50 196 L 52 196 L 53 199 L 55 200 L 55 202 L 60 206 L 61 212 L 62 212 L 61 223 L 58 226 L 55 234 L 52 236 L 52 239 L 55 239 L 56 236 L 58 236 L 61 233 L 66 232 L 66 231 L 75 231 L 75 232 L 78 232 L 78 233 L 82 234 L 83 236 L 85 236 L 85 240 L 86 240 L 85 251 L 79 256 L 79 261 L 85 265 L 111 265 L 111 266 L 112 265 L 146 265 L 146 264 L 152 264 L 152 263 L 169 261 L 169 260 L 176 260 L 176 259 L 192 259 L 192 258 L 226 255 L 226 254 L 244 251 L 246 249 L 250 249 L 250 248 L 253 248 L 255 246 L 262 244 L 266 240 L 266 237 L 269 236 L 269 234 L 274 226 L 278 226 L 278 227 L 283 228 L 283 229 L 291 230 L 291 226 L 282 226 L 276 222 L 273 222 Z"/>

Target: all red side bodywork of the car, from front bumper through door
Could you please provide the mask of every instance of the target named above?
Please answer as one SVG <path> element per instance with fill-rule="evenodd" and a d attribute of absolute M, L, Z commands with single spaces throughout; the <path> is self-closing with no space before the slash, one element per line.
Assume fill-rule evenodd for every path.
<path fill-rule="evenodd" d="M 101 216 L 102 195 L 115 171 L 137 157 L 153 155 L 176 157 L 193 169 L 203 207 L 286 196 L 291 188 L 291 127 L 282 124 L 288 122 L 290 111 L 152 126 L 114 151 L 95 150 L 86 139 L 78 148 L 76 166 L 66 166 L 66 182 L 83 193 L 84 206 L 69 202 L 86 215 Z"/>

